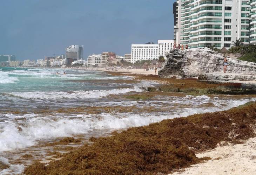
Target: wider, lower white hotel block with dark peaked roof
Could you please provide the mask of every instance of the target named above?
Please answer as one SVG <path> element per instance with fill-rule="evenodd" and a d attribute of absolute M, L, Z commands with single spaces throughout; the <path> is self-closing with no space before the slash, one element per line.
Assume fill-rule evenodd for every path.
<path fill-rule="evenodd" d="M 132 63 L 146 59 L 158 58 L 158 44 L 148 42 L 146 44 L 132 44 Z"/>

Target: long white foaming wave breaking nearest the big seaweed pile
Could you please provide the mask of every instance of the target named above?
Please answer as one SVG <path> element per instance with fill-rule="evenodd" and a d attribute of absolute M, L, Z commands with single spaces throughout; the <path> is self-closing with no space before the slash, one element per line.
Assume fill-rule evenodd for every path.
<path fill-rule="evenodd" d="M 202 97 L 198 96 L 196 98 Z M 70 116 L 56 114 L 55 116 L 48 117 L 31 114 L 18 116 L 18 118 L 26 119 L 19 120 L 18 122 L 15 120 L 7 120 L 0 124 L 0 151 L 32 146 L 36 144 L 37 140 L 41 139 L 69 137 L 73 134 L 86 134 L 95 129 L 124 129 L 148 125 L 163 119 L 172 119 L 181 116 L 186 117 L 195 113 L 228 110 L 232 107 L 255 100 L 255 98 L 230 100 L 228 102 L 226 101 L 225 106 L 220 105 L 216 107 L 193 107 L 193 105 L 191 105 L 189 108 L 179 108 L 178 110 L 159 113 L 101 113 L 97 115 L 83 114 Z M 13 115 L 9 115 L 9 117 L 15 118 Z"/>

